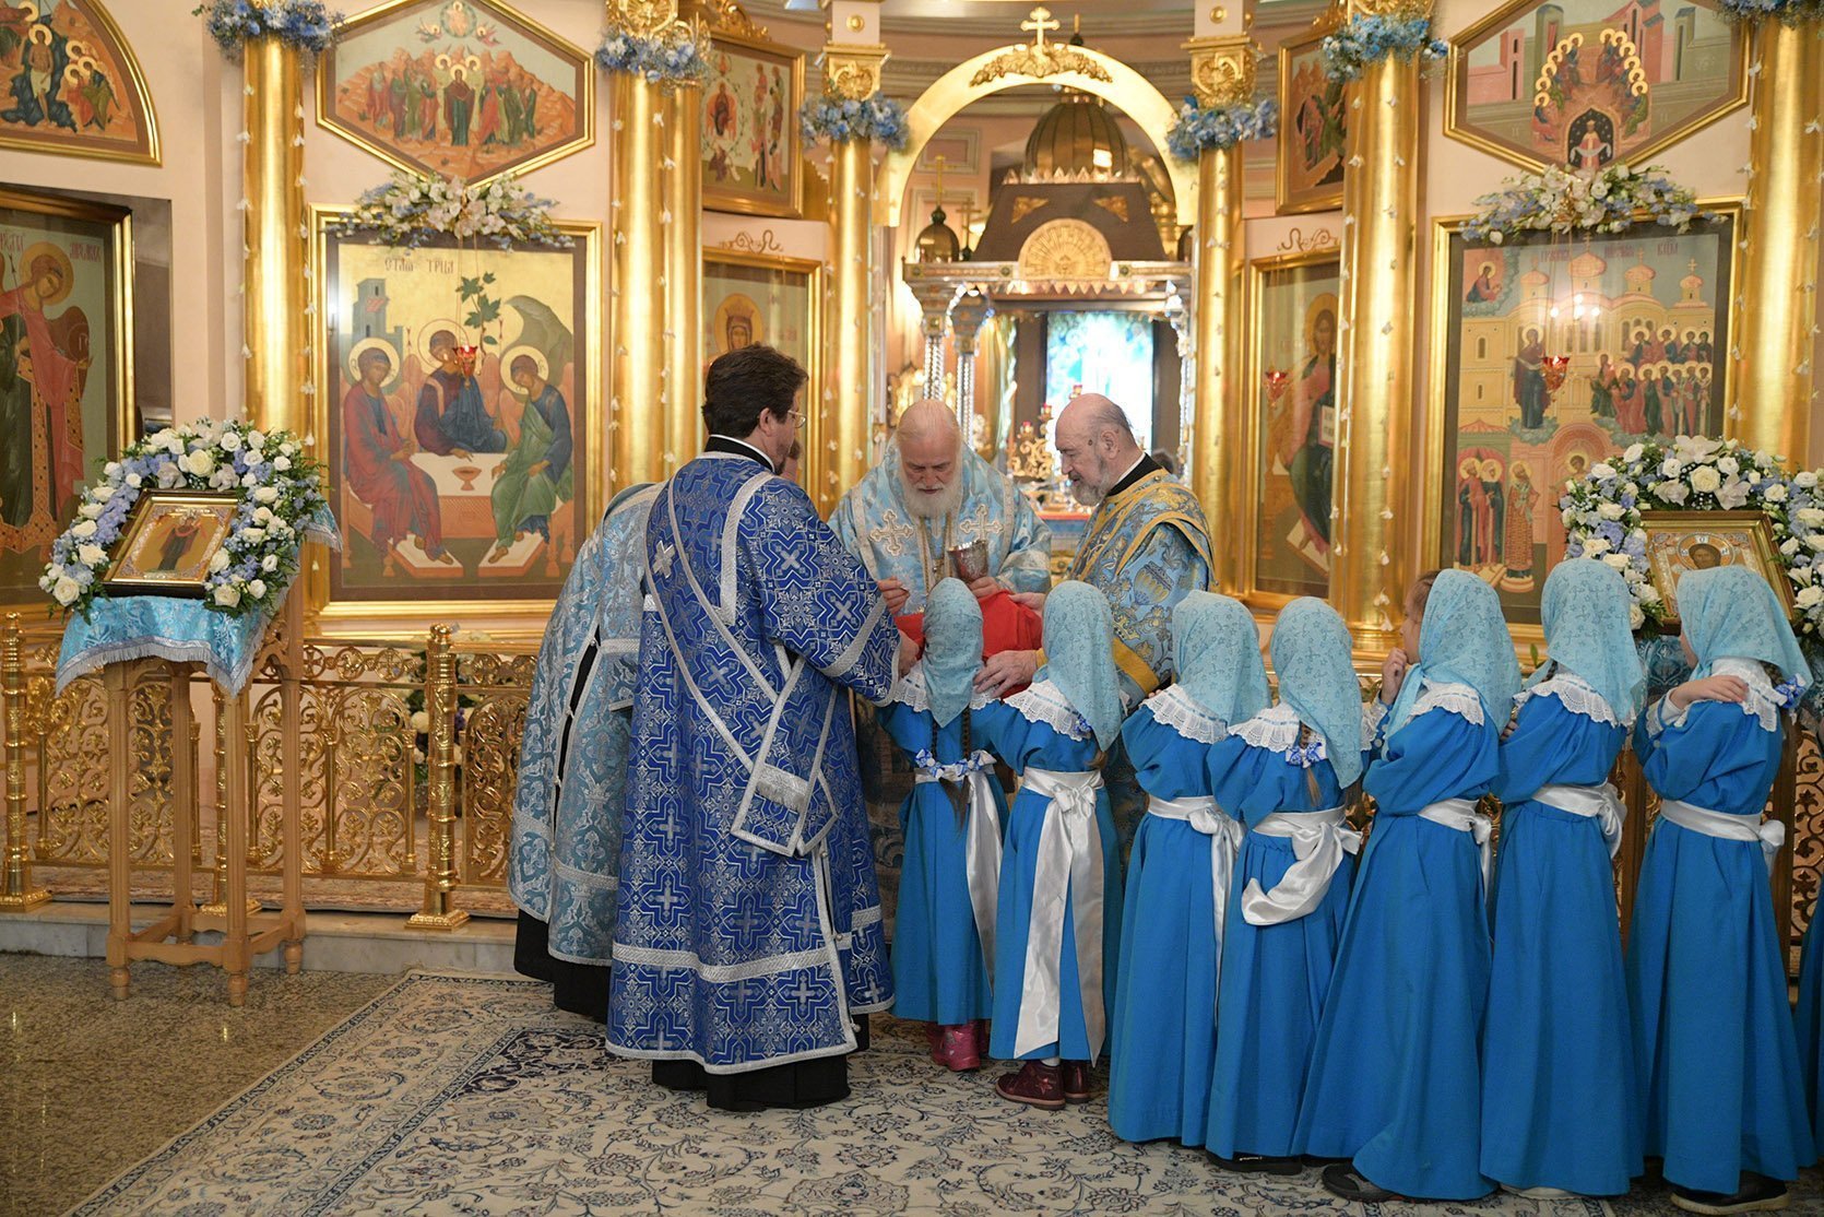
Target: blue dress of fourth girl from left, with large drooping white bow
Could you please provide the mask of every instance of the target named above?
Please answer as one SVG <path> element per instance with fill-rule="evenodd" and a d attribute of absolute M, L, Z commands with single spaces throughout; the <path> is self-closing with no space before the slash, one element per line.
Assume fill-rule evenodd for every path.
<path fill-rule="evenodd" d="M 1290 837 L 1253 832 L 1253 827 L 1275 812 L 1341 806 L 1342 786 L 1328 759 L 1302 768 L 1284 752 L 1249 744 L 1240 735 L 1211 750 L 1209 770 L 1217 801 L 1249 832 L 1229 889 L 1204 1144 L 1226 1159 L 1240 1153 L 1290 1157 L 1299 1151 L 1299 1104 L 1342 940 L 1355 856 L 1342 856 L 1330 890 L 1302 918 L 1249 925 L 1242 916 L 1242 894 L 1249 879 L 1271 892 L 1297 861 Z"/>

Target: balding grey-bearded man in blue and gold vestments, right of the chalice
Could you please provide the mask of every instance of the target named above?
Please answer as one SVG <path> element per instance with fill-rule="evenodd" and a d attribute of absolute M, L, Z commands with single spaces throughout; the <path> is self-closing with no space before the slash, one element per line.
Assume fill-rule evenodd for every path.
<path fill-rule="evenodd" d="M 1073 398 L 1058 414 L 1054 442 L 1076 502 L 1094 507 L 1065 578 L 1107 597 L 1122 695 L 1136 706 L 1173 677 L 1173 608 L 1209 591 L 1209 525 L 1197 496 L 1145 454 L 1127 414 L 1105 396 Z M 1001 651 L 976 688 L 1005 695 L 1029 684 L 1042 662 L 1040 651 Z M 1145 803 L 1120 744 L 1102 772 L 1122 841 L 1131 841 Z"/>

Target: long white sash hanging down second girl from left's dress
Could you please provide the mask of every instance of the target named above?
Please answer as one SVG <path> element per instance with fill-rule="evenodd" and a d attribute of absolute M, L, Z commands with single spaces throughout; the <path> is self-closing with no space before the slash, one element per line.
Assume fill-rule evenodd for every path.
<path fill-rule="evenodd" d="M 1014 1056 L 1058 1042 L 1063 967 L 1063 905 L 1076 929 L 1076 983 L 1089 1033 L 1089 1058 L 1102 1055 L 1107 1011 L 1102 1005 L 1102 834 L 1096 792 L 1102 774 L 1058 774 L 1029 768 L 1021 790 L 1051 799 L 1032 867 L 1032 914 L 1027 923 L 1025 978 L 1020 985 L 1020 1027 Z"/>

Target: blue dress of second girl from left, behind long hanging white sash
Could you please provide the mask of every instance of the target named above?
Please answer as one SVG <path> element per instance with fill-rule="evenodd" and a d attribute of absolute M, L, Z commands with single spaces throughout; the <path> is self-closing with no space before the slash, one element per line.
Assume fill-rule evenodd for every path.
<path fill-rule="evenodd" d="M 1042 684 L 1034 684 L 1042 690 Z M 1094 768 L 1096 737 L 1087 723 L 1060 724 L 1034 721 L 1005 701 L 989 702 L 974 712 L 974 730 L 981 744 L 1005 761 L 1014 772 L 1029 768 L 1060 774 L 1083 774 Z M 1016 1053 L 1020 1031 L 1020 996 L 1025 982 L 1027 938 L 1032 923 L 1032 887 L 1038 870 L 1040 834 L 1051 816 L 1051 799 L 1021 785 L 1007 817 L 1007 837 L 1001 848 L 1001 894 L 994 920 L 994 1035 L 990 1055 L 1001 1060 L 1093 1060 L 1089 1029 L 1080 996 L 1076 963 L 1074 903 L 1065 896 L 1063 951 L 1058 963 L 1058 1040 L 1027 1053 Z M 1096 792 L 1096 836 L 1102 841 L 1104 921 L 1102 921 L 1102 1004 L 1114 1009 L 1114 971 L 1122 936 L 1122 870 L 1114 843 L 1114 817 L 1109 814 L 1107 792 Z"/>

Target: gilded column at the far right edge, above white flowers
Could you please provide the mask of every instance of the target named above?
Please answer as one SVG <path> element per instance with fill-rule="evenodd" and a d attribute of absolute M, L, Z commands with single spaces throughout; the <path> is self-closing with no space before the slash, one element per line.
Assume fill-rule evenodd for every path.
<path fill-rule="evenodd" d="M 1753 33 L 1742 332 L 1727 432 L 1808 463 L 1817 412 L 1819 224 L 1824 223 L 1824 27 L 1762 18 Z"/>

